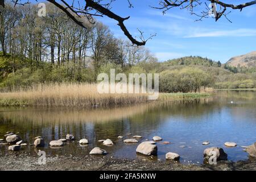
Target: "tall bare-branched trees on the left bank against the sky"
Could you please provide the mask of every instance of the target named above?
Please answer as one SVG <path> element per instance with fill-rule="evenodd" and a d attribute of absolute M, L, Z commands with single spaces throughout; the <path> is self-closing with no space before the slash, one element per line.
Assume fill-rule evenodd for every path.
<path fill-rule="evenodd" d="M 88 28 L 82 28 L 51 3 L 46 9 L 45 17 L 38 16 L 37 5 L 1 9 L 1 56 L 8 59 L 2 60 L 2 77 L 22 72 L 31 77 L 51 75 L 46 81 L 91 82 L 107 64 L 129 69 L 156 61 L 146 48 L 115 38 L 100 22 L 84 22 Z"/>

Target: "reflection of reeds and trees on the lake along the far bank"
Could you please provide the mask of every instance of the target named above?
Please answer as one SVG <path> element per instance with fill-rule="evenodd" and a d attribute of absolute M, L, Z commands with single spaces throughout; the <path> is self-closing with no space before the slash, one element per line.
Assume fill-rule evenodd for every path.
<path fill-rule="evenodd" d="M 6 131 L 20 131 L 20 136 L 32 142 L 32 138 L 43 135 L 47 140 L 64 138 L 75 134 L 76 138 L 116 138 L 127 133 L 150 133 L 170 116 L 181 116 L 188 121 L 192 117 L 220 110 L 237 98 L 241 101 L 255 101 L 255 92 L 218 92 L 216 96 L 176 102 L 154 102 L 151 104 L 113 107 L 108 109 L 3 109 L 0 112 L 0 134 Z M 228 105 L 233 107 L 233 105 Z M 251 107 L 243 105 L 243 107 Z"/>

